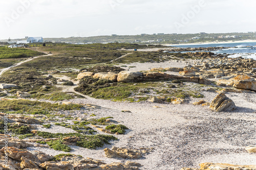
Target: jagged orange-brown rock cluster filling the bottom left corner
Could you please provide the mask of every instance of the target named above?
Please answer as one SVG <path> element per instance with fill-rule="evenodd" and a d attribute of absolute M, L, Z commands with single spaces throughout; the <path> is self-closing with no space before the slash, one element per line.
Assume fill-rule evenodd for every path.
<path fill-rule="evenodd" d="M 5 155 L 8 155 L 6 163 Z M 92 158 L 83 158 L 76 155 L 63 155 L 56 161 L 54 157 L 40 151 L 20 150 L 14 147 L 7 147 L 0 150 L 0 168 L 1 169 L 37 169 L 37 170 L 82 170 L 82 169 L 117 169 L 117 170 L 137 170 L 140 164 L 127 161 L 126 163 L 106 164 L 102 160 Z"/>

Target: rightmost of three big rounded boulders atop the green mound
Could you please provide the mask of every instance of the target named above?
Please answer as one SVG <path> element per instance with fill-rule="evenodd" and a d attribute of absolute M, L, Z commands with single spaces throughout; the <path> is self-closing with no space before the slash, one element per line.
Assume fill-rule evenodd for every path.
<path fill-rule="evenodd" d="M 142 72 L 121 71 L 117 76 L 118 82 L 140 82 L 143 80 Z"/>

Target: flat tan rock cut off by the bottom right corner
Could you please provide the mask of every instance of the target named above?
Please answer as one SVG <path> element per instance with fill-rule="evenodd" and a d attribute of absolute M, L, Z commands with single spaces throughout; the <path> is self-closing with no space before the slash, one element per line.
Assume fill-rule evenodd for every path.
<path fill-rule="evenodd" d="M 256 170 L 256 165 L 232 165 L 227 163 L 201 163 L 200 168 L 186 168 L 181 170 L 236 170 L 236 169 L 250 169 Z"/>

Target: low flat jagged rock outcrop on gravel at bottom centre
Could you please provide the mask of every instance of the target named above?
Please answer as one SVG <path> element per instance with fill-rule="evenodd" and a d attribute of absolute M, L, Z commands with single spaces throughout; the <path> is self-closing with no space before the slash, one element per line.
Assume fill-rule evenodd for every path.
<path fill-rule="evenodd" d="M 125 148 L 113 147 L 111 150 L 108 148 L 104 149 L 105 156 L 108 158 L 123 158 L 123 159 L 139 159 L 143 154 L 147 154 L 146 150 L 131 150 Z"/>

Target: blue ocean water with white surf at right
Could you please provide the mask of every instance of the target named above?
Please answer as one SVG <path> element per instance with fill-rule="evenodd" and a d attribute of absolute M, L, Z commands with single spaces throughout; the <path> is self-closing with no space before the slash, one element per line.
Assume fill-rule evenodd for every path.
<path fill-rule="evenodd" d="M 196 45 L 172 45 L 176 47 L 229 47 L 226 49 L 211 51 L 216 54 L 232 54 L 230 58 L 252 58 L 256 60 L 256 42 L 241 42 L 241 43 L 218 43 L 218 44 L 196 44 Z M 247 47 L 250 46 L 250 47 Z"/>

